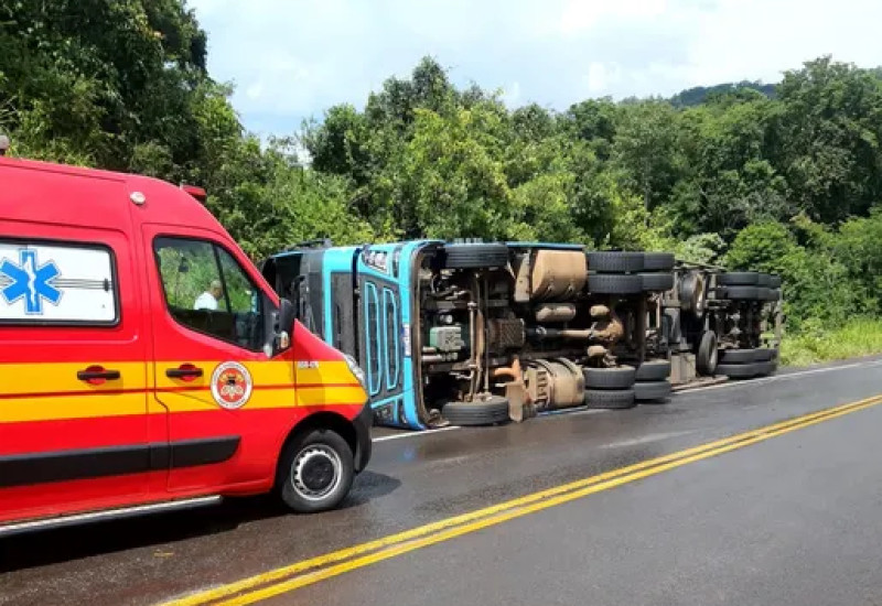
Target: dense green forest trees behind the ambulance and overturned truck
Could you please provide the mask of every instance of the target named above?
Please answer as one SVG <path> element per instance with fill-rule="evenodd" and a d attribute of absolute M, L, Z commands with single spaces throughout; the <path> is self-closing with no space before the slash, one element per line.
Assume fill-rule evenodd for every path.
<path fill-rule="evenodd" d="M 2 2 L 0 131 L 13 155 L 200 184 L 256 259 L 316 237 L 579 241 L 778 272 L 792 331 L 882 313 L 873 66 L 825 56 L 774 86 L 555 111 L 427 57 L 261 142 L 206 42 L 181 0 Z"/>

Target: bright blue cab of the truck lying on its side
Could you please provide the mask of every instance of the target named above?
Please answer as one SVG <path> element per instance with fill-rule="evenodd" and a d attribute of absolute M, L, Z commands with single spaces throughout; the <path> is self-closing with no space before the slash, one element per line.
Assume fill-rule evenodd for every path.
<path fill-rule="evenodd" d="M 415 268 L 443 242 L 299 246 L 263 263 L 301 322 L 364 369 L 376 424 L 424 429 L 411 351 Z"/>

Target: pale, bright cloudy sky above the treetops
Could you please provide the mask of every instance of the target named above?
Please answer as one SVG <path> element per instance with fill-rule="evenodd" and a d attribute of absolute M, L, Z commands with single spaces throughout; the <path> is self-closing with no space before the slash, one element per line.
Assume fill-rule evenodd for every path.
<path fill-rule="evenodd" d="M 882 65 L 882 0 L 190 0 L 246 127 L 362 107 L 424 55 L 509 106 L 777 82 L 831 54 Z"/>

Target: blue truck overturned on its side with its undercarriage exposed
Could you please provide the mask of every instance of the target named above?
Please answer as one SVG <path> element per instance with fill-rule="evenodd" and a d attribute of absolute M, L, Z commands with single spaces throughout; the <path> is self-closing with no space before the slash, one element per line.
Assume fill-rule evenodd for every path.
<path fill-rule="evenodd" d="M 753 291 L 720 290 L 713 268 L 564 244 L 320 242 L 275 255 L 263 273 L 364 368 L 375 422 L 409 429 L 663 401 L 669 378 L 703 374 L 681 366 L 698 364 L 707 331 L 714 356 L 759 348 L 765 310 L 732 303 Z M 689 286 L 699 273 L 700 295 Z M 684 310 L 689 296 L 708 313 Z"/>

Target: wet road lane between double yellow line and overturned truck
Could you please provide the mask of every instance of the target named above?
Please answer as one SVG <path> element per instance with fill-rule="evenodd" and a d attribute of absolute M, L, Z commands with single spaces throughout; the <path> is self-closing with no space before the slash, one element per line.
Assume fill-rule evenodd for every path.
<path fill-rule="evenodd" d="M 291 516 L 271 498 L 245 498 L 207 509 L 0 540 L 0 605 L 154 604 L 874 396 L 882 392 L 882 369 L 875 364 L 685 392 L 662 405 L 573 412 L 377 442 L 368 469 L 344 506 L 322 515 Z M 539 524 L 542 519 L 517 523 Z M 549 526 L 549 532 L 561 530 Z M 444 549 L 455 552 L 456 541 Z M 334 599 L 333 587 L 324 587 L 331 592 L 329 604 L 351 603 Z M 409 603 L 406 591 L 396 603 Z"/>

